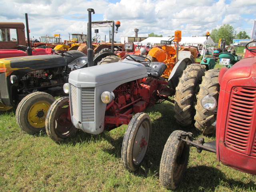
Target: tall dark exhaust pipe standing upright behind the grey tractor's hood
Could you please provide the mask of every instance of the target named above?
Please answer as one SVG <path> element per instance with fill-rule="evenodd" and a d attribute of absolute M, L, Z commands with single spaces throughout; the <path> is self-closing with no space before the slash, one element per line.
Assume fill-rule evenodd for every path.
<path fill-rule="evenodd" d="M 87 56 L 88 67 L 93 66 L 93 49 L 92 49 L 92 13 L 95 14 L 94 9 L 89 8 L 88 11 L 88 26 L 87 26 Z"/>

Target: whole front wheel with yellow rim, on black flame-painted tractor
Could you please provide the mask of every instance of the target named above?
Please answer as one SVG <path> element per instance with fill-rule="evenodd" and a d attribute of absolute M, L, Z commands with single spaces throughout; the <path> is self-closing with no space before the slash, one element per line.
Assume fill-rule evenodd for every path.
<path fill-rule="evenodd" d="M 46 114 L 55 98 L 45 92 L 34 92 L 24 97 L 16 109 L 16 121 L 28 134 L 45 130 Z"/>

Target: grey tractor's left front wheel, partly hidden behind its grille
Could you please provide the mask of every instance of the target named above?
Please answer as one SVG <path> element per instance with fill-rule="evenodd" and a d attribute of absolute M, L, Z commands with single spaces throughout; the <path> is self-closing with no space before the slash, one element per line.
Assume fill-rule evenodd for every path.
<path fill-rule="evenodd" d="M 68 119 L 69 112 L 69 97 L 62 97 L 53 102 L 47 113 L 46 133 L 55 142 L 64 141 L 77 130 Z"/>

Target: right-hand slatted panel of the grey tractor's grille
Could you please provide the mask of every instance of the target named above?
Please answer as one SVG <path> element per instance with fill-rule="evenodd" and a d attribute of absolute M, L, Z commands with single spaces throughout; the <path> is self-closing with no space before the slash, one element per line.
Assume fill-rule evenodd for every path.
<path fill-rule="evenodd" d="M 81 90 L 81 108 L 82 122 L 94 122 L 95 117 L 95 88 L 82 88 Z"/>

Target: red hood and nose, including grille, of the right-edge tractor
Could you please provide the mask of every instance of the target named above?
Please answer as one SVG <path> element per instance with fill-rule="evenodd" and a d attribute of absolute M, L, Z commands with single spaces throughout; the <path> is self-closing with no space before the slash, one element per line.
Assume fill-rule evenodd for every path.
<path fill-rule="evenodd" d="M 222 68 L 220 74 L 217 159 L 256 174 L 256 57 L 244 58 L 228 70 Z"/>

